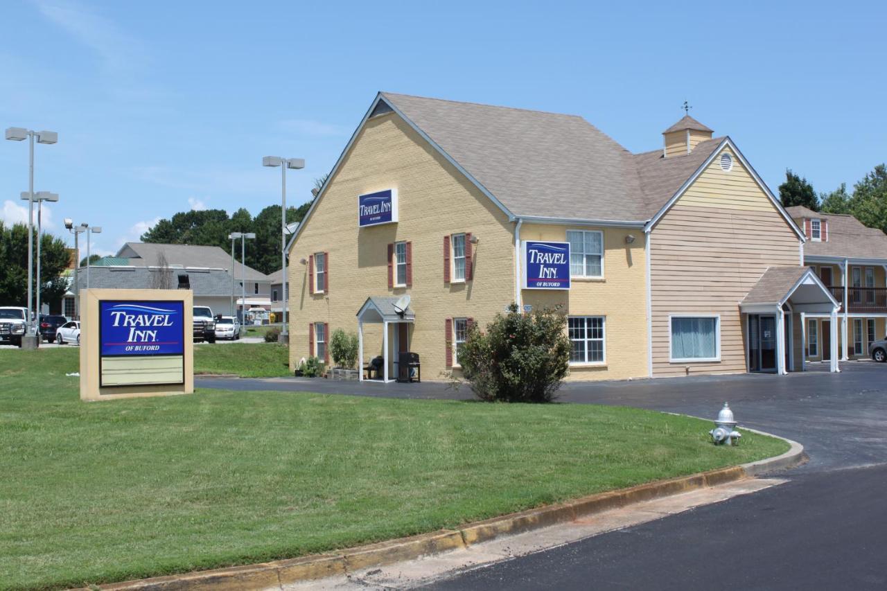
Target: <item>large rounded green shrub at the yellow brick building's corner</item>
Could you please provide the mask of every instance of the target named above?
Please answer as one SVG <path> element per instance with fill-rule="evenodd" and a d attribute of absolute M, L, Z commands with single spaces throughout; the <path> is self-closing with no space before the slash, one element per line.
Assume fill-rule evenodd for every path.
<path fill-rule="evenodd" d="M 567 319 L 548 309 L 522 314 L 513 303 L 486 333 L 469 327 L 459 363 L 483 400 L 551 402 L 569 371 Z"/>

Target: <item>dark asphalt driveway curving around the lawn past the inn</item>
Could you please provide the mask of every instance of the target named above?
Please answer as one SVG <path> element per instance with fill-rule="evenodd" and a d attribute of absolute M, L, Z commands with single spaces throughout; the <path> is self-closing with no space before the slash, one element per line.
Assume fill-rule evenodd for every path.
<path fill-rule="evenodd" d="M 841 374 L 568 383 L 561 402 L 714 417 L 795 439 L 810 461 L 761 493 L 437 581 L 439 589 L 887 588 L 887 364 Z M 471 398 L 440 383 L 200 378 L 200 387 Z M 643 445 L 643 442 L 639 442 Z"/>

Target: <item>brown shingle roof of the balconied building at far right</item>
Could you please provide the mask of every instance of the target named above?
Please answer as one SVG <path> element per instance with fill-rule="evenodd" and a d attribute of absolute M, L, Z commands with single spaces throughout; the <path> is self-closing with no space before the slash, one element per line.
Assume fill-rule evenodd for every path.
<path fill-rule="evenodd" d="M 887 235 L 877 228 L 869 228 L 848 214 L 824 214 L 796 205 L 786 208 L 798 225 L 805 217 L 828 222 L 826 241 L 808 240 L 804 256 L 835 256 L 839 258 L 867 258 L 887 260 Z"/>

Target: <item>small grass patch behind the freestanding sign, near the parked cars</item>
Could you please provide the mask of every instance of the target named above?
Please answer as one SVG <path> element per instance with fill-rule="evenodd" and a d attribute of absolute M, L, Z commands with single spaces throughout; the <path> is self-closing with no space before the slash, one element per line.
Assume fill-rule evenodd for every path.
<path fill-rule="evenodd" d="M 194 374 L 240 377 L 291 375 L 289 350 L 278 343 L 215 343 L 194 346 Z"/>

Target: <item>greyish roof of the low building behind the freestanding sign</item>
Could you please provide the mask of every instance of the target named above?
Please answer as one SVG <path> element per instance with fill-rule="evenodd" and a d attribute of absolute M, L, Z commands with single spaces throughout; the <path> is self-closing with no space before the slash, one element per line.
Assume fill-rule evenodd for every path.
<path fill-rule="evenodd" d="M 153 242 L 127 242 L 117 256 L 130 259 L 132 265 L 155 266 L 160 255 L 166 257 L 167 264 L 183 267 L 201 267 L 205 269 L 226 269 L 231 267 L 231 253 L 222 248 L 212 246 L 198 246 L 192 244 L 155 244 Z M 141 259 L 141 260 L 138 260 Z M 245 265 L 234 261 L 234 277 L 239 279 L 244 276 Z M 246 266 L 246 279 L 250 281 L 267 281 L 268 277 Z"/>

